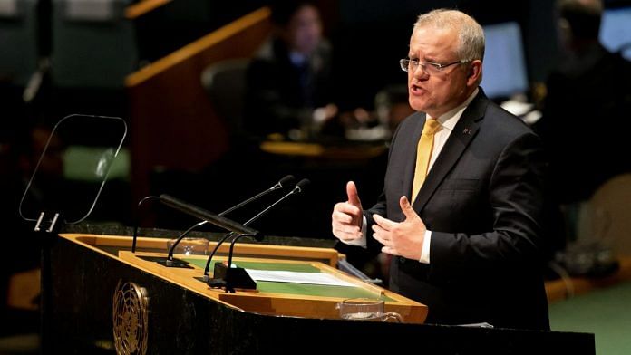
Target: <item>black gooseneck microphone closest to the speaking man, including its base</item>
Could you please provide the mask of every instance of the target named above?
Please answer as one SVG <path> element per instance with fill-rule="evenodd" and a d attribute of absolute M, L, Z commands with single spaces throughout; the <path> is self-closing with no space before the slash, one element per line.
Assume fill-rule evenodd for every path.
<path fill-rule="evenodd" d="M 309 183 L 310 181 L 308 179 L 303 178 L 296 184 L 296 187 L 294 187 L 291 191 L 289 191 L 285 196 L 277 199 L 276 202 L 274 202 L 270 206 L 267 206 L 266 209 L 259 212 L 256 216 L 250 218 L 248 222 L 244 223 L 243 225 L 249 225 L 255 222 L 260 216 L 265 215 L 267 211 L 269 211 L 274 206 L 277 206 L 279 203 L 284 201 L 287 197 L 290 197 L 294 194 L 302 192 L 302 190 L 307 185 L 309 185 Z M 206 261 L 206 267 L 204 268 L 204 276 L 208 277 L 209 275 L 210 261 L 212 260 L 212 257 L 215 255 L 215 253 L 217 253 L 219 245 L 223 244 L 230 236 L 235 235 L 235 234 L 236 233 L 234 232 L 228 233 L 227 235 L 224 235 L 224 237 L 221 238 L 221 240 L 218 241 L 217 245 L 215 246 L 215 249 L 213 249 L 212 253 L 209 255 L 209 259 Z M 237 243 L 238 239 L 244 236 L 252 236 L 255 239 L 257 239 L 257 241 L 262 240 L 262 235 L 249 235 L 247 233 L 241 233 L 237 235 L 236 237 L 234 237 L 232 239 L 232 242 L 230 243 L 230 249 L 228 252 L 228 265 L 215 263 L 213 278 L 209 279 L 208 281 L 208 284 L 210 287 L 226 287 L 226 292 L 228 293 L 234 293 L 235 288 L 241 288 L 241 289 L 256 289 L 257 288 L 257 284 L 252 280 L 252 278 L 248 275 L 245 269 L 240 268 L 240 267 L 235 267 L 235 268 L 230 267 L 232 264 L 232 255 L 234 254 L 235 243 Z"/>

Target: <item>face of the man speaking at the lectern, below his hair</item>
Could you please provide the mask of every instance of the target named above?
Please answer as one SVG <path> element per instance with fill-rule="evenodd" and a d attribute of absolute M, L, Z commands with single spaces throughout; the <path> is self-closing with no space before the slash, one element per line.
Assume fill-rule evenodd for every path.
<path fill-rule="evenodd" d="M 410 38 L 411 60 L 447 64 L 461 60 L 457 57 L 458 34 L 455 30 L 432 26 L 420 27 Z M 442 72 L 431 74 L 419 65 L 408 72 L 410 106 L 437 118 L 465 101 L 468 91 L 469 64 L 455 64 Z"/>

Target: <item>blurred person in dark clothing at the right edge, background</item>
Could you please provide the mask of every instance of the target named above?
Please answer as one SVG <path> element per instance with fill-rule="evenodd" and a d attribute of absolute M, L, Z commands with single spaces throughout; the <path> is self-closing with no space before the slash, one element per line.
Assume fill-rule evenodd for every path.
<path fill-rule="evenodd" d="M 586 200 L 608 178 L 629 171 L 631 62 L 598 41 L 600 0 L 558 2 L 565 57 L 548 77 L 538 131 L 558 202 Z M 622 155 L 621 155 L 622 154 Z"/>

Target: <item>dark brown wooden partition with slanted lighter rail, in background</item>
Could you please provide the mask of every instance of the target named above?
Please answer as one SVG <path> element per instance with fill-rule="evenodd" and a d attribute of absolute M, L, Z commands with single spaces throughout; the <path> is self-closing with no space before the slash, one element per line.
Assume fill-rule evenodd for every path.
<path fill-rule="evenodd" d="M 126 78 L 135 201 L 148 195 L 151 169 L 198 170 L 228 149 L 226 125 L 209 102 L 201 72 L 213 62 L 250 57 L 270 30 L 264 7 Z"/>

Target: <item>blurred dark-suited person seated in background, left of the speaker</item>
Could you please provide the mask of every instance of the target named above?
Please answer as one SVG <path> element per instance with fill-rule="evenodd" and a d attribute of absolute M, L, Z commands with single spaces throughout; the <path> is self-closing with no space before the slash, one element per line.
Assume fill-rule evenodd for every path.
<path fill-rule="evenodd" d="M 309 1 L 276 1 L 271 7 L 274 33 L 248 68 L 245 130 L 306 139 L 337 114 L 331 46 Z"/>

